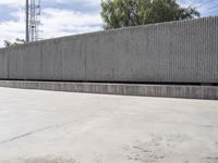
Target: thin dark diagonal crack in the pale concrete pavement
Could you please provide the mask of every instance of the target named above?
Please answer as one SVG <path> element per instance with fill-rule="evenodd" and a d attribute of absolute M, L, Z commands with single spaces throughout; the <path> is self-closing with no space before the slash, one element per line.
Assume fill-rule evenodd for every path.
<path fill-rule="evenodd" d="M 32 131 L 28 131 L 28 133 L 25 133 L 25 134 L 22 134 L 22 135 L 19 135 L 16 137 L 13 137 L 13 138 L 10 138 L 10 139 L 7 139 L 7 140 L 2 140 L 0 141 L 0 146 L 3 145 L 3 143 L 8 143 L 8 142 L 11 142 L 11 141 L 14 141 L 16 139 L 21 139 L 21 138 L 24 138 L 26 136 L 31 136 L 31 135 L 34 135 L 36 133 L 40 133 L 40 131 L 44 131 L 44 130 L 48 130 L 48 129 L 51 129 L 51 128 L 60 128 L 64 125 L 68 125 L 72 122 L 75 122 L 75 121 L 71 121 L 71 122 L 66 122 L 66 123 L 62 123 L 62 124 L 59 124 L 59 125 L 52 125 L 52 126 L 47 126 L 47 127 L 43 127 L 43 128 L 39 128 L 39 129 L 36 129 L 36 130 L 32 130 Z"/>

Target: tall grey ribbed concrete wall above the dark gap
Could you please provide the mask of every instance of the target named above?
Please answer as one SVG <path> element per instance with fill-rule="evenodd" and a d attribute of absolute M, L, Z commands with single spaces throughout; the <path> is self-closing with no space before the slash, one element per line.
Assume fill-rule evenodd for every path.
<path fill-rule="evenodd" d="M 218 84 L 218 17 L 0 49 L 0 78 Z"/>

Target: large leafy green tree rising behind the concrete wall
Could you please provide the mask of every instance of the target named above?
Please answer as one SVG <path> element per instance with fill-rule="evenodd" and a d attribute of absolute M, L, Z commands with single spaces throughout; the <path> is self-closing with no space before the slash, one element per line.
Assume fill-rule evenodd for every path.
<path fill-rule="evenodd" d="M 106 0 L 101 3 L 104 28 L 199 17 L 195 8 L 182 8 L 175 0 Z"/>

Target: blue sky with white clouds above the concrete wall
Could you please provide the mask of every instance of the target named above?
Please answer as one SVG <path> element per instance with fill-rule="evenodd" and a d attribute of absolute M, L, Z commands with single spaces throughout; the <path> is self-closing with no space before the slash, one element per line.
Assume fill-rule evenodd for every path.
<path fill-rule="evenodd" d="M 36 0 L 37 1 L 37 0 Z M 101 0 L 41 0 L 40 39 L 102 30 Z M 201 16 L 218 15 L 218 0 L 178 0 Z M 25 38 L 25 0 L 0 0 L 0 47 Z"/>

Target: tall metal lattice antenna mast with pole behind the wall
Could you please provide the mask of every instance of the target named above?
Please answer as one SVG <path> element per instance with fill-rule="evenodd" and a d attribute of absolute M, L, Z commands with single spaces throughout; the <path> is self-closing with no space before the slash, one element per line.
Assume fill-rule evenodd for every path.
<path fill-rule="evenodd" d="M 40 12 L 40 0 L 26 0 L 26 41 L 38 40 Z"/>

